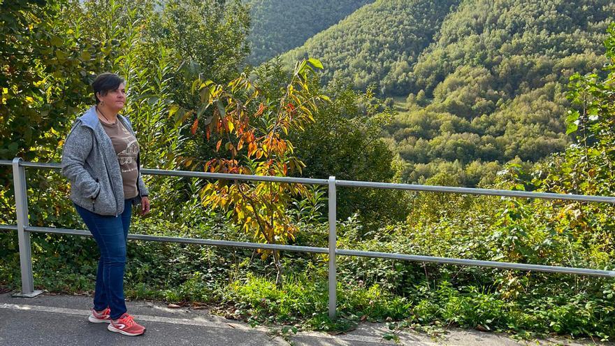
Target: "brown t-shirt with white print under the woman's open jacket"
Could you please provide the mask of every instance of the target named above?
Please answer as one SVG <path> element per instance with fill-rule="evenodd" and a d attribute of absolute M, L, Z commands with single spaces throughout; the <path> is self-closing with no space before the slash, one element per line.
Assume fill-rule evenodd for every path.
<path fill-rule="evenodd" d="M 139 194 L 137 189 L 139 143 L 119 119 L 115 124 L 106 124 L 105 122 L 101 122 L 101 124 L 107 136 L 111 138 L 113 149 L 117 154 L 117 162 L 120 163 L 120 172 L 124 184 L 124 199 L 132 199 Z"/>

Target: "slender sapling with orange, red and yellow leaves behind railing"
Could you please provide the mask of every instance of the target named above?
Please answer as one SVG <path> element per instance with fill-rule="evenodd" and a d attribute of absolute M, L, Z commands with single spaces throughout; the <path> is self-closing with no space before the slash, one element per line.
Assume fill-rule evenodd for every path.
<path fill-rule="evenodd" d="M 289 131 L 298 131 L 314 120 L 318 103 L 328 98 L 308 87 L 308 79 L 322 65 L 316 59 L 296 64 L 280 99 L 259 97 L 259 87 L 245 74 L 228 85 L 211 81 L 199 85 L 201 107 L 196 111 L 192 134 L 199 123 L 206 138 L 217 134 L 216 151 L 226 157 L 210 159 L 205 170 L 215 173 L 287 176 L 301 172 L 303 163 L 293 155 Z M 258 103 L 258 106 L 255 106 Z M 207 115 L 205 115 L 207 113 Z M 224 143 L 224 145 L 223 145 Z M 233 219 L 255 240 L 284 244 L 294 239 L 296 226 L 289 217 L 294 196 L 304 196 L 303 185 L 272 182 L 210 182 L 203 188 L 204 206 L 230 211 Z M 269 252 L 262 252 L 263 257 Z M 277 280 L 282 281 L 280 252 L 273 251 Z"/>

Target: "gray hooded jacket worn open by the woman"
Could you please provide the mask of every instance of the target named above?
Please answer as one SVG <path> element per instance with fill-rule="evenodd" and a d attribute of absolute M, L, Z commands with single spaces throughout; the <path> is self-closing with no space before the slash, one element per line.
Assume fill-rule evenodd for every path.
<path fill-rule="evenodd" d="M 122 115 L 117 120 L 134 135 L 132 124 Z M 135 136 L 136 138 L 136 136 Z M 140 173 L 137 155 L 139 204 L 149 192 Z M 120 215 L 124 211 L 124 187 L 120 163 L 113 144 L 100 123 L 96 108 L 92 106 L 78 117 L 64 141 L 62 175 L 71 182 L 71 201 L 99 215 Z"/>

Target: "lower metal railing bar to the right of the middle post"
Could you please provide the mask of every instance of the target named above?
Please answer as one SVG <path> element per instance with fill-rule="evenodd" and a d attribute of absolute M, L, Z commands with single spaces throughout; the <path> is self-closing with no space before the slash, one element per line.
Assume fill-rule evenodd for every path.
<path fill-rule="evenodd" d="M 511 262 L 498 261 L 479 261 L 476 259 L 454 259 L 447 257 L 431 257 L 421 256 L 416 254 L 395 254 L 390 252 L 371 252 L 359 250 L 343 250 L 340 249 L 336 254 L 342 256 L 359 256 L 372 257 L 381 259 L 401 259 L 404 261 L 419 261 L 440 264 L 456 264 L 458 266 L 480 266 L 488 268 L 513 269 L 517 271 L 543 271 L 548 273 L 574 274 L 574 275 L 591 275 L 602 277 L 615 277 L 615 271 L 600 271 L 598 269 L 587 268 L 572 268 L 560 266 L 542 266 L 539 264 L 520 264 Z"/>

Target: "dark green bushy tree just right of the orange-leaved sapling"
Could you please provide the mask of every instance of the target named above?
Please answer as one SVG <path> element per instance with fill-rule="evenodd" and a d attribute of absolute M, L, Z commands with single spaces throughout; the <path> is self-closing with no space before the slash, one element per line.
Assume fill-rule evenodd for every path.
<path fill-rule="evenodd" d="M 314 113 L 305 131 L 292 134 L 296 154 L 305 162 L 302 176 L 340 180 L 393 182 L 398 177 L 395 155 L 381 139 L 382 127 L 393 116 L 368 89 L 357 92 L 349 85 L 331 83 L 325 93 L 331 102 Z M 382 220 L 400 220 L 407 208 L 403 192 L 377 189 L 339 189 L 338 215 L 358 212 L 362 221 L 379 226 Z"/>

